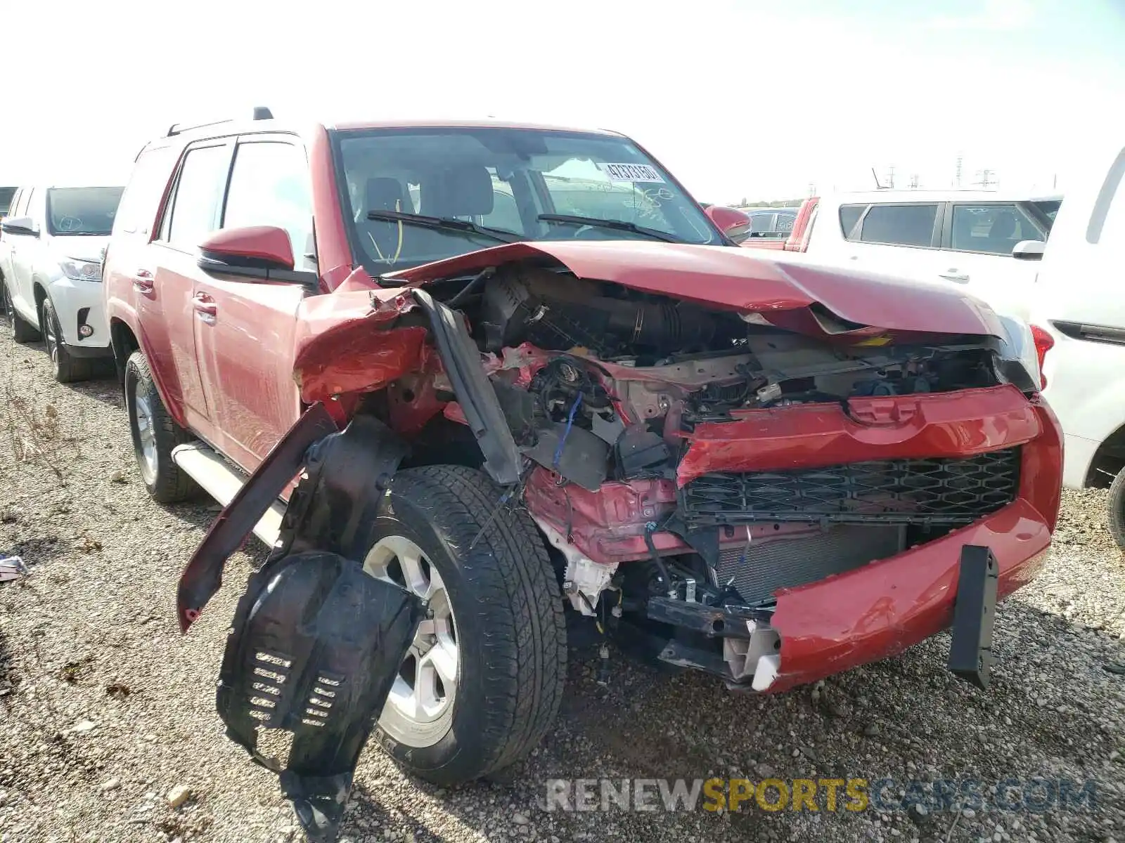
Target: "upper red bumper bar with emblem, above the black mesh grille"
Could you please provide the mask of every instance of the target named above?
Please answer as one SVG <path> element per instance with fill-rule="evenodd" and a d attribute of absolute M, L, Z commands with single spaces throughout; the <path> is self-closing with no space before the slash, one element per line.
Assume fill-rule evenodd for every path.
<path fill-rule="evenodd" d="M 835 404 L 741 410 L 684 435 L 682 487 L 711 471 L 778 471 L 865 460 L 972 456 L 1022 445 L 1043 429 L 1011 386 L 957 392 L 853 398 Z"/>

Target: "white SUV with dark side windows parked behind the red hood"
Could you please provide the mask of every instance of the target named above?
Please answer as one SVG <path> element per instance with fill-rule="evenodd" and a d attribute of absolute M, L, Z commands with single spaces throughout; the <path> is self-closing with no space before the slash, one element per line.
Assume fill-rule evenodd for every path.
<path fill-rule="evenodd" d="M 808 200 L 785 248 L 830 265 L 964 288 L 1027 318 L 1060 197 L 879 190 Z M 766 247 L 752 237 L 744 245 Z M 1023 260 L 1020 260 L 1023 259 Z"/>

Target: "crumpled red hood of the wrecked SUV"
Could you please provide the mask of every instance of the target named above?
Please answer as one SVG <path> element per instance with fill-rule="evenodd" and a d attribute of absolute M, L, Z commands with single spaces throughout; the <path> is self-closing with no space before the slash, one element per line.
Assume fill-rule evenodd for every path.
<path fill-rule="evenodd" d="M 741 312 L 803 309 L 819 302 L 860 326 L 1005 337 L 992 309 L 971 296 L 888 275 L 763 257 L 749 250 L 651 241 L 539 241 L 388 273 L 410 284 L 512 261 L 554 259 L 578 278 L 673 296 Z"/>

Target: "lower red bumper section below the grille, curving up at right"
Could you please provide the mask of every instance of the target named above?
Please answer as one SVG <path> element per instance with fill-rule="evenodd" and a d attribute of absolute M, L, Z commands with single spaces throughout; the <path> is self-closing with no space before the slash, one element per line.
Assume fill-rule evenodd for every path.
<path fill-rule="evenodd" d="M 1000 566 L 999 597 L 1029 582 L 1046 559 L 1059 514 L 1062 430 L 1043 428 L 1024 447 L 1019 498 L 988 518 L 891 559 L 777 592 L 781 672 L 770 691 L 885 659 L 948 627 L 965 544 L 987 545 Z"/>

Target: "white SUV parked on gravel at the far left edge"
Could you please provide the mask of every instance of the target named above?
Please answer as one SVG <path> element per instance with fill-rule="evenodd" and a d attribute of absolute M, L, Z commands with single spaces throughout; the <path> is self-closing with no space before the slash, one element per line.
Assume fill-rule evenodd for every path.
<path fill-rule="evenodd" d="M 102 251 L 124 188 L 25 187 L 0 223 L 0 302 L 16 342 L 40 336 L 55 379 L 84 380 L 112 357 Z"/>

